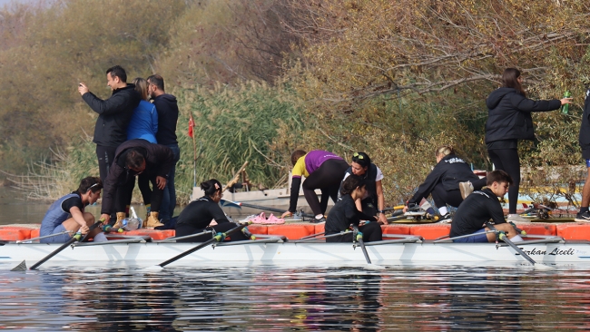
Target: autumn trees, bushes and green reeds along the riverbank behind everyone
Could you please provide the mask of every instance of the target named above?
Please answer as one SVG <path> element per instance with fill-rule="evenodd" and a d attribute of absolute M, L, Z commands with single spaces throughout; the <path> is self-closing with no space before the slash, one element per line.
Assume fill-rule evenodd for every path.
<path fill-rule="evenodd" d="M 250 161 L 253 182 L 278 186 L 296 148 L 347 159 L 367 151 L 386 175 L 388 202 L 398 203 L 428 174 L 442 143 L 491 170 L 485 99 L 503 69 L 515 66 L 530 97 L 561 98 L 565 90 L 574 96 L 568 114 L 535 114 L 537 140 L 519 147 L 531 170 L 523 190 L 550 188 L 546 195 L 555 198 L 565 183 L 557 194 L 571 196 L 585 176 L 564 166 L 581 161 L 588 9 L 582 1 L 515 0 L 15 5 L 0 20 L 0 76 L 7 83 L 0 95 L 0 169 L 22 172 L 43 160 L 50 182 L 97 174 L 84 134 L 93 132 L 95 114 L 75 86 L 83 81 L 108 97 L 103 73 L 118 63 L 132 78 L 161 73 L 167 91 L 179 97 L 181 195 L 193 184 L 186 135 L 192 113 L 197 181 L 228 181 Z M 50 148 L 62 151 L 59 160 Z"/>

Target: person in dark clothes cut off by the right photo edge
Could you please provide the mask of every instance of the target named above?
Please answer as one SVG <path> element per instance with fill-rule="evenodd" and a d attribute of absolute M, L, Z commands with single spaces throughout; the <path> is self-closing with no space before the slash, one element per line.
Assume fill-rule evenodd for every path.
<path fill-rule="evenodd" d="M 584 113 L 578 137 L 580 148 L 582 148 L 582 158 L 585 160 L 586 177 L 582 189 L 580 211 L 575 215 L 575 221 L 582 222 L 590 222 L 590 212 L 588 212 L 588 205 L 590 205 L 590 99 L 588 95 L 590 95 L 590 88 L 585 93 Z"/>

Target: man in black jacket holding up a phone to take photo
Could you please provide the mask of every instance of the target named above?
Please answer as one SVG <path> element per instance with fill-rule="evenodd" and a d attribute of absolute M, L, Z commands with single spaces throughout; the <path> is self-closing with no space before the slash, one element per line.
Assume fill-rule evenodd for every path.
<path fill-rule="evenodd" d="M 127 126 L 133 110 L 142 100 L 142 96 L 135 91 L 135 85 L 126 82 L 127 73 L 123 67 L 115 65 L 106 71 L 106 84 L 113 91 L 109 99 L 103 101 L 96 97 L 85 83 L 78 86 L 84 102 L 98 113 L 93 142 L 96 143 L 98 169 L 103 182 L 109 173 L 117 147 L 127 141 Z"/>

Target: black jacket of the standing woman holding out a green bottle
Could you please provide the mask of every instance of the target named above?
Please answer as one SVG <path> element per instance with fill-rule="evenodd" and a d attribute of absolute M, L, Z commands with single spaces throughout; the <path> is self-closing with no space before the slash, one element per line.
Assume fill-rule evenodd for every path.
<path fill-rule="evenodd" d="M 534 140 L 531 112 L 547 112 L 561 106 L 559 100 L 533 101 L 513 88 L 499 88 L 486 100 L 486 143 L 501 140 Z"/>

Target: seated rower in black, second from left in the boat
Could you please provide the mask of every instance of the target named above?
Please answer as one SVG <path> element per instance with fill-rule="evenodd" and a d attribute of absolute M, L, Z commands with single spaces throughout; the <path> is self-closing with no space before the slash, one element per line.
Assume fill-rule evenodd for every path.
<path fill-rule="evenodd" d="M 204 230 L 215 229 L 217 232 L 224 232 L 237 227 L 237 225 L 228 220 L 223 210 L 219 206 L 223 191 L 221 182 L 215 179 L 201 183 L 201 189 L 205 195 L 193 200 L 187 205 L 176 220 L 176 237 L 180 238 L 187 235 L 198 234 Z M 214 224 L 211 220 L 215 220 Z M 178 239 L 177 242 L 204 242 L 211 239 L 211 234 L 204 234 L 189 239 Z M 241 241 L 248 239 L 243 232 L 231 234 L 232 241 Z"/>

